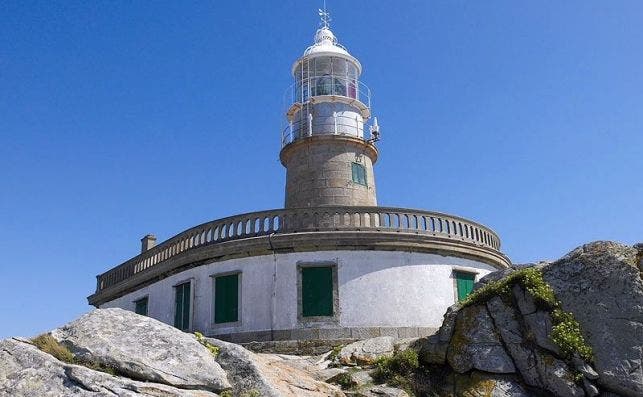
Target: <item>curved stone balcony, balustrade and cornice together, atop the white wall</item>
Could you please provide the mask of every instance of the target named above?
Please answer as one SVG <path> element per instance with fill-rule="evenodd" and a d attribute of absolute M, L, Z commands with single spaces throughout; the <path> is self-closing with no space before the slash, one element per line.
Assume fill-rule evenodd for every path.
<path fill-rule="evenodd" d="M 99 305 L 168 274 L 226 258 L 323 250 L 438 252 L 511 264 L 486 226 L 404 208 L 317 207 L 235 215 L 190 228 L 97 276 Z"/>

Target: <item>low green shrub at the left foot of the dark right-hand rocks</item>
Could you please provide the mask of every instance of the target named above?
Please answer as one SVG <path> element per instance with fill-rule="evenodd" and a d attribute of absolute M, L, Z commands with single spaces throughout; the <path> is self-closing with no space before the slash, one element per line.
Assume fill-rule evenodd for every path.
<path fill-rule="evenodd" d="M 413 395 L 412 378 L 420 366 L 418 354 L 413 349 L 396 352 L 392 357 L 382 357 L 375 362 L 372 376 L 377 382 L 388 383 Z"/>

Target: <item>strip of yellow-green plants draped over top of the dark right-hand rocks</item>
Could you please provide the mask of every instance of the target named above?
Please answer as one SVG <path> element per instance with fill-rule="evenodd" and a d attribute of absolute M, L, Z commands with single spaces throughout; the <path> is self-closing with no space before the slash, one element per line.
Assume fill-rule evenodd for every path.
<path fill-rule="evenodd" d="M 541 309 L 551 312 L 554 323 L 551 340 L 560 351 L 567 358 L 578 354 L 584 360 L 591 362 L 592 348 L 585 341 L 580 324 L 572 313 L 561 309 L 561 303 L 556 298 L 554 290 L 545 282 L 542 271 L 538 268 L 528 267 L 517 270 L 503 279 L 489 282 L 473 291 L 462 301 L 461 306 L 484 303 L 494 296 L 508 296 L 514 284 L 520 284 L 529 292 Z"/>

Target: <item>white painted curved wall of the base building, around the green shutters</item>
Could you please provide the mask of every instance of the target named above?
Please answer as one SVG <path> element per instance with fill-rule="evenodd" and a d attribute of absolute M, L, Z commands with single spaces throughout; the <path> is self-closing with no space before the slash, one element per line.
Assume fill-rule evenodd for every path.
<path fill-rule="evenodd" d="M 148 296 L 149 316 L 173 324 L 173 286 L 191 281 L 193 330 L 225 334 L 302 328 L 297 320 L 297 263 L 314 261 L 337 263 L 342 327 L 438 327 L 447 307 L 455 303 L 453 270 L 476 272 L 476 280 L 495 270 L 469 259 L 413 252 L 265 255 L 186 270 L 101 307 L 134 310 L 134 301 Z M 215 326 L 211 276 L 233 271 L 241 272 L 241 321 L 234 326 Z"/>

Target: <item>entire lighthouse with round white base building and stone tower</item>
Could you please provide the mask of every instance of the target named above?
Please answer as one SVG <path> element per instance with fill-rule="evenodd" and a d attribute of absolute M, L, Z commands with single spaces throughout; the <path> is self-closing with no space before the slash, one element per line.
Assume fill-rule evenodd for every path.
<path fill-rule="evenodd" d="M 97 277 L 88 300 L 238 342 L 421 336 L 510 265 L 489 228 L 377 206 L 379 126 L 362 66 L 326 15 L 293 65 L 285 208 L 183 231 Z M 369 126 L 370 123 L 370 126 Z"/>

